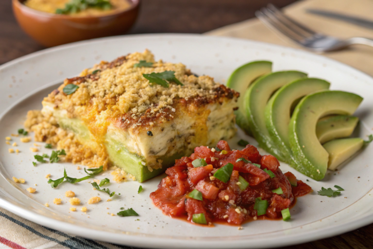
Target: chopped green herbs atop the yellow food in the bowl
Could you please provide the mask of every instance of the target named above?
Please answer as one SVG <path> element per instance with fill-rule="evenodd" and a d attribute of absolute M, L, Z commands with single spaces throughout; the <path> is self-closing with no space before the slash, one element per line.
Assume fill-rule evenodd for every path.
<path fill-rule="evenodd" d="M 56 14 L 77 13 L 87 8 L 111 9 L 112 5 L 108 0 L 70 0 L 65 8 L 57 9 Z"/>

